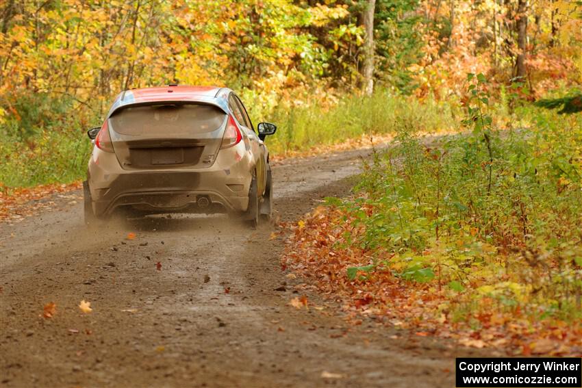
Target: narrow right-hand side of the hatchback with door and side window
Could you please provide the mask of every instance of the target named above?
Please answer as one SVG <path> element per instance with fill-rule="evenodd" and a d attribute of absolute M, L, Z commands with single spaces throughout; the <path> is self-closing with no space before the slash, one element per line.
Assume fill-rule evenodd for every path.
<path fill-rule="evenodd" d="M 249 139 L 249 143 L 251 144 L 251 153 L 253 154 L 253 160 L 255 161 L 257 169 L 257 192 L 262 194 L 266 187 L 266 152 L 264 142 L 262 142 L 257 133 L 255 133 L 251 118 L 249 118 L 249 114 L 247 114 L 242 101 L 240 101 L 236 94 L 231 94 L 229 104 L 235 105 L 231 107 L 231 110 L 233 110 L 236 120 L 239 122 L 241 129 L 244 131 L 246 138 Z"/>

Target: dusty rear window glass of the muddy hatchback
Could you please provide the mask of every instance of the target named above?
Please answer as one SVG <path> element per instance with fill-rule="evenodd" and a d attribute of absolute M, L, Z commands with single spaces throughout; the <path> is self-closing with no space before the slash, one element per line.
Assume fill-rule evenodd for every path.
<path fill-rule="evenodd" d="M 155 104 L 127 107 L 110 117 L 122 135 L 192 135 L 212 132 L 226 119 L 222 110 L 202 104 Z"/>

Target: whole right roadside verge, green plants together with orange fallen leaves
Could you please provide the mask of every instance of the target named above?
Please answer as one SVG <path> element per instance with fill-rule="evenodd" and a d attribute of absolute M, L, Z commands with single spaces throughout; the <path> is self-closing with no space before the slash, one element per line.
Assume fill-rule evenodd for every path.
<path fill-rule="evenodd" d="M 501 136 L 473 109 L 472 133 L 431 147 L 401 125 L 353 198 L 294 227 L 283 263 L 352 315 L 581 356 L 582 117 L 535 110 L 534 126 Z"/>

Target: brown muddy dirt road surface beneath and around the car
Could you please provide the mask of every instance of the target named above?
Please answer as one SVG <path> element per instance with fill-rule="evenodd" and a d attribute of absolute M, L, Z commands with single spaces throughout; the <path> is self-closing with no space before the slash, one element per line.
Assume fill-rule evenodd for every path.
<path fill-rule="evenodd" d="M 275 166 L 281 219 L 348 194 L 369 153 Z M 90 232 L 73 194 L 0 224 L 0 387 L 454 387 L 453 344 L 353 326 L 333 301 L 297 294 L 273 227 L 192 216 Z M 320 309 L 290 306 L 301 294 Z"/>

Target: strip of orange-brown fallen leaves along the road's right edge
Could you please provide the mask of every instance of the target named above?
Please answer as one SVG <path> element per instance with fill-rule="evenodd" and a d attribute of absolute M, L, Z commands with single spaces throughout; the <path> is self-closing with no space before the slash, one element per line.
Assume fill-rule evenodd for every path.
<path fill-rule="evenodd" d="M 407 281 L 381 268 L 367 270 L 362 263 L 372 262 L 370 253 L 348 244 L 363 231 L 337 208 L 319 207 L 288 229 L 292 235 L 281 258 L 281 268 L 290 270 L 286 277 L 301 276 L 327 298 L 340 298 L 352 324 L 361 324 L 358 316 L 368 316 L 420 337 L 450 338 L 471 348 L 497 348 L 510 355 L 582 356 L 582 322 L 531 320 L 519 309 L 498 309 L 488 296 L 459 315 L 451 306 L 464 292 L 460 287 Z M 352 268 L 358 269 L 350 273 Z M 307 308 L 307 300 L 292 298 L 289 305 Z"/>

